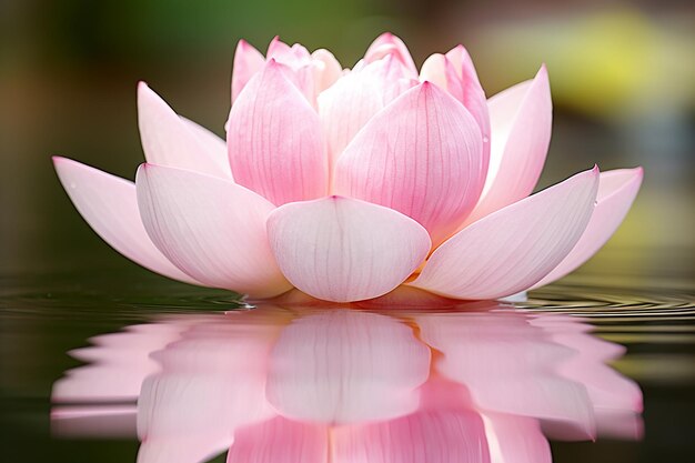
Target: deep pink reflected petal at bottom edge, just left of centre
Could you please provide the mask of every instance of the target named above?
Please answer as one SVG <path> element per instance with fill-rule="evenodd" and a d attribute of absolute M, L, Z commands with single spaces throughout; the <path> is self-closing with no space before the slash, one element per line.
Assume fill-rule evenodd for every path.
<path fill-rule="evenodd" d="M 282 416 L 236 432 L 226 463 L 328 463 L 329 430 Z"/>

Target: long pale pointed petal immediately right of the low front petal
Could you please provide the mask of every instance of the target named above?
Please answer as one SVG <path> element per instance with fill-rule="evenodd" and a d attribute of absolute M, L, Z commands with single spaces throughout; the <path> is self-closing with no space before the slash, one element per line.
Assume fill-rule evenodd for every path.
<path fill-rule="evenodd" d="M 412 285 L 459 299 L 497 299 L 545 276 L 576 244 L 594 210 L 598 168 L 578 173 L 460 231 Z"/>

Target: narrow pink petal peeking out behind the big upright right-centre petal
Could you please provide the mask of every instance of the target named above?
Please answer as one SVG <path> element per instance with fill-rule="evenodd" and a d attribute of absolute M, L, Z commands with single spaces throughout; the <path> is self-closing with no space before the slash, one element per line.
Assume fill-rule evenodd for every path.
<path fill-rule="evenodd" d="M 485 92 L 477 80 L 473 61 L 463 46 L 450 50 L 446 56 L 435 53 L 427 58 L 422 64 L 420 80 L 436 83 L 463 103 L 481 129 L 483 152 L 488 157 L 491 128 Z"/>

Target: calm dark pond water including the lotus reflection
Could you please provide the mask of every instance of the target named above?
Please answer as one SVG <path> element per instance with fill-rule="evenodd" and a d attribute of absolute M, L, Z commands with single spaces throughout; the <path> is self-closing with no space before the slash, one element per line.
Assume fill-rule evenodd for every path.
<path fill-rule="evenodd" d="M 527 301 L 457 305 L 406 292 L 250 306 L 111 260 L 16 272 L 0 293 L 0 454 L 691 461 L 692 274 L 688 253 L 669 255 L 682 265 L 663 279 L 594 266 Z"/>

